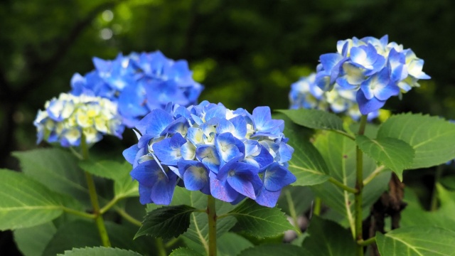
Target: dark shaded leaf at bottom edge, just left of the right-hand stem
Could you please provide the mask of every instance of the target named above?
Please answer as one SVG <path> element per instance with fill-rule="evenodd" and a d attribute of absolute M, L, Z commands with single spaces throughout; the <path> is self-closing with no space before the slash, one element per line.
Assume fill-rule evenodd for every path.
<path fill-rule="evenodd" d="M 302 247 L 314 255 L 355 255 L 355 242 L 349 230 L 331 220 L 313 216 Z"/>

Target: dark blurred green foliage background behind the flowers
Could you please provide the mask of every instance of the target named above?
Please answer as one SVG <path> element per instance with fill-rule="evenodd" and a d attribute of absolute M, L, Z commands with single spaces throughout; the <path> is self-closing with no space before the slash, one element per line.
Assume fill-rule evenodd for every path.
<path fill-rule="evenodd" d="M 36 112 L 70 90 L 73 73 L 119 52 L 188 60 L 205 85 L 200 100 L 278 109 L 336 41 L 388 34 L 425 60 L 432 80 L 386 108 L 455 119 L 454 31 L 450 0 L 4 0 L 0 168 L 17 169 L 10 152 L 36 147 Z"/>

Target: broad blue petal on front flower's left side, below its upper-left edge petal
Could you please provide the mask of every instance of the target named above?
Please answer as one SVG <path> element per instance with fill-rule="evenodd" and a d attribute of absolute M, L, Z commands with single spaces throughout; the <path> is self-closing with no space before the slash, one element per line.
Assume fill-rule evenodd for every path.
<path fill-rule="evenodd" d="M 177 161 L 182 159 L 180 149 L 185 143 L 186 139 L 177 133 L 171 138 L 156 142 L 152 147 L 161 162 L 166 165 L 176 165 Z"/>

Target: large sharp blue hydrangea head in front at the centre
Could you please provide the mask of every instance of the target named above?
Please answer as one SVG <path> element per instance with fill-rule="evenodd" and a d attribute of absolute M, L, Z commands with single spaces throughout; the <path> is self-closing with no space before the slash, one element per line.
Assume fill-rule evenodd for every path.
<path fill-rule="evenodd" d="M 152 110 L 136 126 L 139 143 L 126 149 L 139 181 L 141 203 L 168 205 L 176 185 L 232 204 L 252 198 L 273 207 L 284 186 L 296 181 L 287 169 L 294 151 L 283 120 L 269 107 L 252 114 L 207 101 Z"/>

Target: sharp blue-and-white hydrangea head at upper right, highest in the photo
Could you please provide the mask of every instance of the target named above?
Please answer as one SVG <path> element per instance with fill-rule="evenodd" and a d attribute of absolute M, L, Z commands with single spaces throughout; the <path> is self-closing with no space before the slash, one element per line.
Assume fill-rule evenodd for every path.
<path fill-rule="evenodd" d="M 390 97 L 430 78 L 422 71 L 424 60 L 411 49 L 388 43 L 387 35 L 338 41 L 337 52 L 323 54 L 319 60 L 316 85 L 323 90 L 332 90 L 335 85 L 354 90 L 362 114 L 379 110 Z"/>

